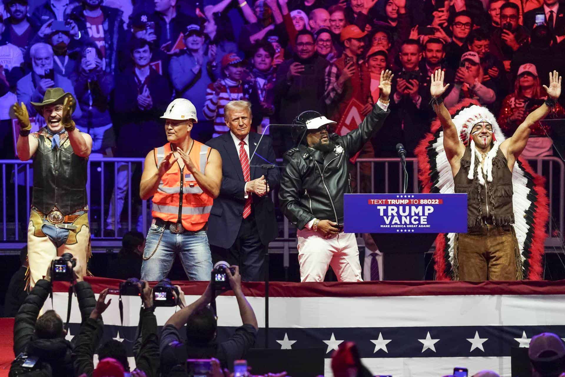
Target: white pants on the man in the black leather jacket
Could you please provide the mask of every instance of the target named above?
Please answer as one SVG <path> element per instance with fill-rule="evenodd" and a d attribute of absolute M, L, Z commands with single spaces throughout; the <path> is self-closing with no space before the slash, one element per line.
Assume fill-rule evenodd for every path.
<path fill-rule="evenodd" d="M 324 238 L 320 232 L 297 230 L 301 281 L 324 281 L 332 266 L 338 281 L 363 281 L 355 233 Z"/>

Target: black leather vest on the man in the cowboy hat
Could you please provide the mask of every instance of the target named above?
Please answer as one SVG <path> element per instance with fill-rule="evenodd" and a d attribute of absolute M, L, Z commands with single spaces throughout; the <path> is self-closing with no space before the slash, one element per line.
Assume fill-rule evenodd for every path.
<path fill-rule="evenodd" d="M 57 207 L 63 215 L 86 207 L 88 158 L 75 154 L 67 132 L 60 135 L 59 148 L 54 149 L 45 127 L 36 135 L 39 145 L 33 155 L 32 205 L 42 213 Z"/>

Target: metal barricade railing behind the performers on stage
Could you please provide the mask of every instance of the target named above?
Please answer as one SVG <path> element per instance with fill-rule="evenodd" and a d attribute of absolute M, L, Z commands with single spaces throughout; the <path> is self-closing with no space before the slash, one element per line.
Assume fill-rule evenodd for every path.
<path fill-rule="evenodd" d="M 278 162 L 280 162 L 279 160 Z M 418 192 L 418 161 L 415 158 L 407 158 L 407 171 L 409 179 L 411 180 L 411 192 Z M 1 213 L 1 226 L 2 234 L 0 235 L 0 249 L 18 249 L 23 246 L 27 240 L 27 225 L 29 222 L 29 207 L 31 204 L 31 186 L 33 182 L 31 161 L 22 162 L 19 160 L 0 160 L 0 170 L 2 174 L 2 207 Z M 360 190 L 360 164 L 371 164 L 371 192 L 400 192 L 402 190 L 402 176 L 399 174 L 401 171 L 401 163 L 398 158 L 359 158 L 355 164 L 357 170 L 357 190 Z M 549 197 L 549 210 L 550 219 L 547 224 L 547 231 L 549 237 L 546 240 L 547 248 L 562 248 L 563 247 L 563 226 L 565 215 L 565 164 L 556 157 L 540 157 L 529 161 L 534 171 L 537 174 L 546 177 L 546 189 Z M 122 185 L 119 186 L 119 177 L 123 181 L 123 177 L 127 177 L 125 188 L 127 193 L 123 194 L 124 207 L 127 206 L 127 221 L 120 222 L 119 214 L 115 214 L 115 209 L 118 207 L 118 196 L 114 194 L 111 199 L 107 199 L 109 190 L 107 190 L 107 177 L 106 172 L 109 167 L 114 171 L 114 187 L 112 193 L 118 190 L 124 190 Z M 113 169 L 112 169 L 113 167 Z M 119 246 L 116 241 L 121 233 L 118 229 L 132 230 L 138 227 L 140 223 L 140 230 L 147 231 L 149 215 L 147 213 L 147 201 L 141 201 L 140 222 L 134 219 L 133 210 L 134 199 L 132 197 L 132 184 L 133 187 L 139 186 L 139 180 L 132 181 L 133 171 L 140 168 L 141 172 L 144 167 L 143 158 L 102 158 L 91 157 L 88 164 L 88 203 L 90 206 L 90 227 L 92 232 L 92 246 L 93 248 L 115 248 Z M 95 173 L 94 173 L 95 171 Z M 15 174 L 18 172 L 18 174 Z M 379 176 L 375 175 L 379 173 Z M 96 176 L 93 176 L 96 174 Z M 397 182 L 398 181 L 398 185 Z M 275 203 L 277 202 L 277 192 L 273 191 L 272 198 Z M 24 200 L 25 198 L 25 200 Z M 113 201 L 113 203 L 110 203 Z M 114 208 L 113 229 L 110 235 L 105 235 L 106 228 L 106 205 L 110 209 L 110 204 Z M 125 214 L 124 214 L 125 215 Z M 25 221 L 24 221 L 25 220 Z M 289 254 L 295 252 L 296 241 L 294 232 L 295 229 L 292 224 L 289 224 L 288 219 L 282 216 L 280 224 L 282 237 L 273 241 L 270 248 L 275 252 L 282 252 L 285 254 L 284 265 L 289 264 Z"/>

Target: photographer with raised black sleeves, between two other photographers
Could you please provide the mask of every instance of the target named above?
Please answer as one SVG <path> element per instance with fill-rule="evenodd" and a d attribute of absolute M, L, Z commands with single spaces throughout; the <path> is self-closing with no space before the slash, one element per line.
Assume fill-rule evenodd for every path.
<path fill-rule="evenodd" d="M 136 369 L 145 372 L 147 377 L 158 375 L 159 370 L 159 340 L 157 337 L 157 318 L 155 318 L 153 306 L 153 292 L 146 281 L 137 283 L 141 291 L 141 299 L 144 307 L 140 309 L 141 347 L 136 355 Z M 142 288 L 143 287 L 143 288 Z M 111 299 L 106 301 L 108 288 L 104 289 L 98 296 L 96 307 L 90 313 L 80 328 L 79 341 L 73 351 L 75 364 L 75 375 L 92 375 L 94 370 L 94 351 L 97 348 L 103 334 L 104 323 L 102 313 L 110 306 Z M 98 359 L 111 357 L 116 359 L 129 372 L 129 363 L 125 347 L 119 341 L 108 340 L 98 350 Z"/>

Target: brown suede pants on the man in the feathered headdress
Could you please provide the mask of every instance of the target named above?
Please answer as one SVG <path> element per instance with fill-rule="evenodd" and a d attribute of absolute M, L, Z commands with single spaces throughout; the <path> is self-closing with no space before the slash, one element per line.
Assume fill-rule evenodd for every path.
<path fill-rule="evenodd" d="M 520 280 L 521 260 L 514 227 L 483 224 L 455 238 L 459 280 Z"/>

